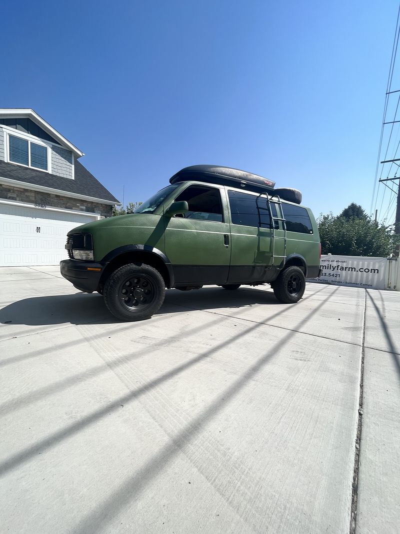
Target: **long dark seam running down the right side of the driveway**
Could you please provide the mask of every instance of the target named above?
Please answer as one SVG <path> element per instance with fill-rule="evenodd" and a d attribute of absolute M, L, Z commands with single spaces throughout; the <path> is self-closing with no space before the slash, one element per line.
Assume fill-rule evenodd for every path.
<path fill-rule="evenodd" d="M 361 450 L 361 435 L 363 423 L 363 396 L 364 396 L 364 357 L 365 357 L 365 321 L 366 321 L 366 289 L 364 301 L 364 321 L 363 321 L 363 336 L 361 345 L 361 368 L 359 380 L 359 397 L 358 397 L 358 422 L 356 432 L 356 442 L 354 447 L 354 468 L 353 468 L 353 482 L 351 483 L 351 508 L 350 508 L 350 528 L 349 534 L 355 534 L 357 524 L 357 504 L 358 504 L 358 472 L 359 459 Z"/>

